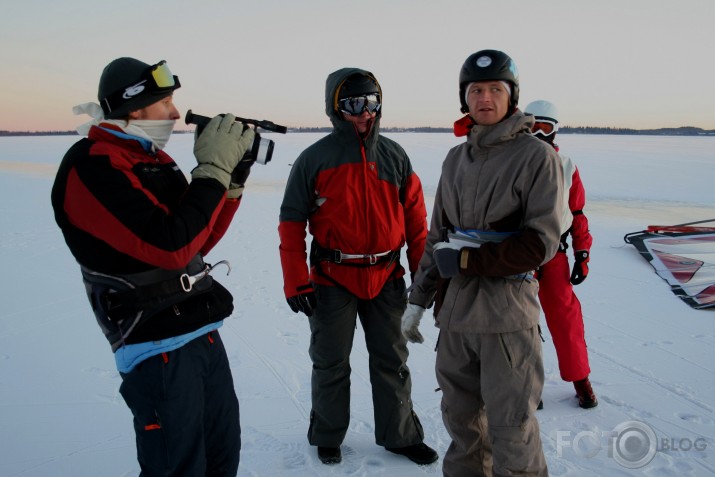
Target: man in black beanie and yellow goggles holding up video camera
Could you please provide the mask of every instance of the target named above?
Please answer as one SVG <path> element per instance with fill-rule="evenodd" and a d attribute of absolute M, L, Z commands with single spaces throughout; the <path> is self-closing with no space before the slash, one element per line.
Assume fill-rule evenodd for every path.
<path fill-rule="evenodd" d="M 109 63 L 101 109 L 75 107 L 94 120 L 62 160 L 52 205 L 115 355 L 141 474 L 235 476 L 239 406 L 218 333 L 233 298 L 203 256 L 238 208 L 254 131 L 230 114 L 213 118 L 187 182 L 162 150 L 179 87 L 164 61 Z"/>

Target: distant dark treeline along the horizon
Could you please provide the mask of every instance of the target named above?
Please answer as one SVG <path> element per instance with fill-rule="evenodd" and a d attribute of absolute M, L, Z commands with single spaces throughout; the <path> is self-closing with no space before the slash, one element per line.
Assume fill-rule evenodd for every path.
<path fill-rule="evenodd" d="M 288 132 L 302 133 L 329 133 L 332 127 L 319 128 L 288 128 Z M 381 132 L 418 132 L 418 133 L 451 133 L 452 128 L 380 128 Z M 193 131 L 174 131 L 175 134 L 192 133 Z M 1 131 L 2 136 L 71 136 L 76 135 L 76 131 Z M 559 129 L 559 134 L 616 134 L 635 136 L 715 136 L 715 129 L 701 129 L 695 127 L 660 128 L 660 129 L 629 129 L 629 128 L 603 128 L 595 126 L 563 126 Z"/>

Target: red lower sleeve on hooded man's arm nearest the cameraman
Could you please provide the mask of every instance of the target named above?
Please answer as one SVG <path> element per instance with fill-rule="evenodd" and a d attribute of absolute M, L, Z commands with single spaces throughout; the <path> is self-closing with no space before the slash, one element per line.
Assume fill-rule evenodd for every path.
<path fill-rule="evenodd" d="M 298 287 L 310 283 L 306 253 L 306 222 L 281 222 L 279 251 L 283 267 L 283 291 L 286 298 L 298 295 Z"/>

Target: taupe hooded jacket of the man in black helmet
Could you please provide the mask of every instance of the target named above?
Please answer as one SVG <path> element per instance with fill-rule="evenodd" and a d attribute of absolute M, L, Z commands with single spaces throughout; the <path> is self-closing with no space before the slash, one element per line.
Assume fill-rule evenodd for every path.
<path fill-rule="evenodd" d="M 409 296 L 429 308 L 438 286 L 446 286 L 436 316 L 441 329 L 506 333 L 538 324 L 537 281 L 508 278 L 550 260 L 561 236 L 563 168 L 554 148 L 530 134 L 533 121 L 516 111 L 495 125 L 474 125 L 442 164 L 425 253 Z M 444 284 L 432 251 L 450 227 L 511 235 L 462 251 L 460 274 Z"/>

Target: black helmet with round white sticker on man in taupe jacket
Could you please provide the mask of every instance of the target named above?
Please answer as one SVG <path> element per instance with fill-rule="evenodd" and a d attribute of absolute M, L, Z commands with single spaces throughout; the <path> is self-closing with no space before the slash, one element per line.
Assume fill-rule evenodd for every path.
<path fill-rule="evenodd" d="M 469 55 L 459 72 L 459 102 L 463 113 L 469 112 L 465 98 L 467 85 L 475 81 L 506 81 L 511 85 L 509 111 L 519 102 L 519 71 L 509 55 L 498 50 L 481 50 Z"/>

